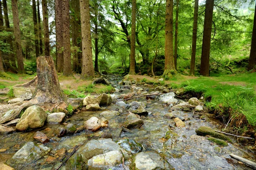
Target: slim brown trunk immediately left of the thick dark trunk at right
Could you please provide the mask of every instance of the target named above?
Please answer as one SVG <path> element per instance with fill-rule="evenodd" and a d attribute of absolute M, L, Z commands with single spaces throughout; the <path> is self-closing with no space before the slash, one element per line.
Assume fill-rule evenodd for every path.
<path fill-rule="evenodd" d="M 195 0 L 194 7 L 194 24 L 193 24 L 193 36 L 192 36 L 192 52 L 190 62 L 190 76 L 195 76 L 195 52 L 196 52 L 196 38 L 197 38 L 197 23 L 198 23 L 198 0 Z"/>

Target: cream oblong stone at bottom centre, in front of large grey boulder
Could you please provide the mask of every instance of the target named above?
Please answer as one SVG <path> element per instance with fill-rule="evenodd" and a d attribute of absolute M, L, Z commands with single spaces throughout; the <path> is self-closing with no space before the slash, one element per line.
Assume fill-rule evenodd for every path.
<path fill-rule="evenodd" d="M 122 163 L 122 153 L 119 150 L 110 151 L 88 160 L 88 167 L 91 168 L 110 168 Z"/>

